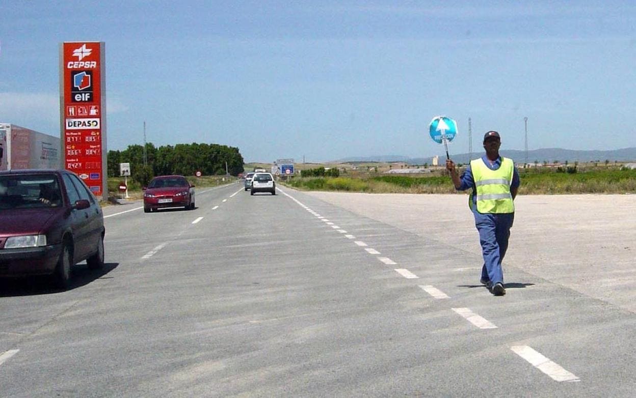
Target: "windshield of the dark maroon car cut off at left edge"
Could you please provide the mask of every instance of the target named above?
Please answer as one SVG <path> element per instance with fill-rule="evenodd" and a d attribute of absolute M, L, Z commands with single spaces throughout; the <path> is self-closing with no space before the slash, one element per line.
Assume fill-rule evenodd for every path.
<path fill-rule="evenodd" d="M 62 205 L 55 175 L 0 176 L 0 209 L 48 208 Z"/>

